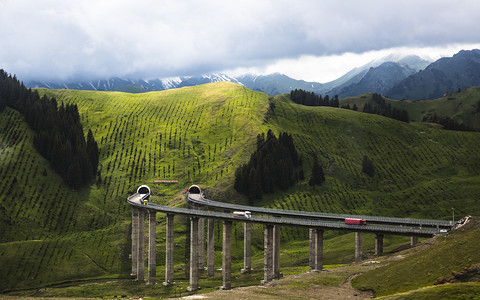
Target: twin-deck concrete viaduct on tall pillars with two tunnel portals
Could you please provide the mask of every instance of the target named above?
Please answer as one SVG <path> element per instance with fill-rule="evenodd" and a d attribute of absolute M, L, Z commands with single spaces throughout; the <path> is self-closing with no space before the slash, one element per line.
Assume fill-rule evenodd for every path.
<path fill-rule="evenodd" d="M 375 255 L 383 253 L 385 234 L 410 236 L 412 245 L 418 237 L 432 237 L 445 233 L 454 225 L 451 221 L 422 220 L 407 218 L 386 218 L 345 214 L 311 213 L 281 209 L 260 208 L 228 204 L 207 200 L 198 186 L 190 187 L 186 200 L 191 208 L 178 208 L 148 203 L 150 189 L 143 185 L 137 193 L 127 198 L 132 206 L 132 275 L 137 280 L 145 280 L 144 230 L 145 215 L 149 216 L 148 238 L 148 279 L 149 284 L 156 282 L 156 213 L 166 217 L 166 264 L 164 285 L 173 284 L 174 274 L 174 234 L 175 215 L 190 218 L 190 283 L 187 288 L 195 291 L 199 288 L 199 269 L 205 262 L 205 220 L 208 220 L 207 237 L 207 276 L 214 275 L 214 222 L 222 221 L 222 289 L 231 288 L 231 231 L 233 222 L 244 223 L 244 268 L 242 273 L 251 270 L 251 224 L 263 224 L 264 228 L 264 279 L 267 283 L 279 278 L 280 273 L 280 226 L 298 226 L 309 228 L 309 270 L 318 272 L 323 269 L 323 232 L 325 230 L 345 230 L 355 232 L 355 261 L 362 260 L 362 233 L 375 234 Z M 222 210 L 212 211 L 212 209 Z M 253 215 L 232 214 L 232 211 L 251 212 Z M 345 219 L 363 219 L 366 225 L 345 224 Z"/>

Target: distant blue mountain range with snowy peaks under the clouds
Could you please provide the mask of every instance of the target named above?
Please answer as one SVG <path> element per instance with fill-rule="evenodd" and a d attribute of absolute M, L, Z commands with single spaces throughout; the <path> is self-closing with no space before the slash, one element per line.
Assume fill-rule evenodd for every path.
<path fill-rule="evenodd" d="M 338 95 L 339 98 L 379 93 L 397 100 L 435 99 L 448 92 L 480 85 L 480 50 L 462 50 L 453 57 L 444 57 L 434 62 L 416 55 L 390 55 L 354 68 L 327 83 L 297 80 L 279 73 L 240 76 L 217 73 L 148 80 L 114 77 L 97 80 L 29 81 L 25 85 L 31 88 L 141 93 L 218 81 L 242 84 L 269 95 L 303 89 L 322 95 Z"/>

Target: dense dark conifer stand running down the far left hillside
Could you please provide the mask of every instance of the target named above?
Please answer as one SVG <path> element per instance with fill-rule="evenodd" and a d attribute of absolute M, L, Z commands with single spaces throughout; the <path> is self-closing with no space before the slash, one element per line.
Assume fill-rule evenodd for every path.
<path fill-rule="evenodd" d="M 0 111 L 7 105 L 25 116 L 35 132 L 35 148 L 68 186 L 78 189 L 95 179 L 100 152 L 91 130 L 85 139 L 77 105 L 40 97 L 0 70 Z"/>

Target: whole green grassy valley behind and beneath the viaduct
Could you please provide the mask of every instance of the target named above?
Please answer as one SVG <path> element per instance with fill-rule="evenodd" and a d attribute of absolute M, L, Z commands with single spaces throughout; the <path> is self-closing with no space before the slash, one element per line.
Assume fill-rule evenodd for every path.
<path fill-rule="evenodd" d="M 68 188 L 35 150 L 33 132 L 22 114 L 9 107 L 0 113 L 0 292 L 30 295 L 53 284 L 125 279 L 110 288 L 115 292 L 91 291 L 86 296 L 142 294 L 144 285 L 128 279 L 131 210 L 126 197 L 148 184 L 153 202 L 183 205 L 185 188 L 199 184 L 209 198 L 247 203 L 233 189 L 235 170 L 248 161 L 257 135 L 270 129 L 277 135 L 292 135 L 306 178 L 287 190 L 264 195 L 255 205 L 438 219 L 450 219 L 453 207 L 457 216 L 480 215 L 478 132 L 447 131 L 435 124 L 404 123 L 340 108 L 307 107 L 293 103 L 287 95 L 269 97 L 226 82 L 144 94 L 38 92 L 78 106 L 84 130 L 92 130 L 98 141 L 100 176 L 86 188 Z M 479 95 L 478 89 L 470 88 L 443 100 L 392 101 L 392 106 L 402 105 L 411 119 L 420 121 L 433 109 L 441 114 L 448 105 L 462 120 L 478 126 Z M 357 101 L 360 106 L 368 97 L 344 99 L 341 104 Z M 314 155 L 326 177 L 319 187 L 308 185 Z M 364 156 L 374 163 L 373 178 L 362 173 Z M 154 184 L 158 179 L 178 183 Z M 164 216 L 159 215 L 157 223 L 157 279 L 161 282 Z M 217 236 L 220 229 L 217 225 Z M 186 220 L 176 218 L 175 278 L 180 287 L 186 286 L 186 230 Z M 258 272 L 243 279 L 239 274 L 241 226 L 234 226 L 233 234 L 232 270 L 236 273 L 232 278 L 240 278 L 237 285 L 233 279 L 233 285 L 258 284 L 263 276 L 263 232 L 253 227 L 253 267 Z M 308 231 L 285 227 L 281 238 L 282 272 L 307 270 Z M 353 234 L 326 232 L 325 239 L 326 265 L 353 260 Z M 407 238 L 386 237 L 385 252 L 406 244 Z M 220 266 L 220 241 L 217 249 L 216 266 Z M 373 236 L 366 235 L 364 252 L 372 249 Z M 472 264 L 479 263 L 477 257 L 473 260 Z M 439 276 L 450 275 L 454 267 Z M 203 277 L 201 287 L 220 286 L 221 272 L 217 275 Z M 145 292 L 149 295 L 159 293 L 155 287 L 145 289 L 151 290 Z M 85 289 L 72 288 L 66 294 L 46 296 L 85 296 L 82 293 Z"/>

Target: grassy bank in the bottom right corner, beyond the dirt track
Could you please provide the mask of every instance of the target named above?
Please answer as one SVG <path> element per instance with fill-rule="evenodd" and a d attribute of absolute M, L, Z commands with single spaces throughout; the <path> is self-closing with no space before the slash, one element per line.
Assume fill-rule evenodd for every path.
<path fill-rule="evenodd" d="M 374 290 L 377 296 L 390 295 L 433 285 L 439 277 L 477 264 L 479 224 L 480 220 L 474 218 L 464 227 L 430 241 L 433 246 L 355 278 L 354 286 Z"/>

